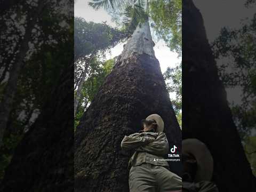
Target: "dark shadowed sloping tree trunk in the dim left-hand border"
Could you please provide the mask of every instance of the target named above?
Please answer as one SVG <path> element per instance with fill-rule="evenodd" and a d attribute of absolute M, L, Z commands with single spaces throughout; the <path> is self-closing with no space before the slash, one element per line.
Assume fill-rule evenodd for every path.
<path fill-rule="evenodd" d="M 15 149 L 0 191 L 74 191 L 73 70 L 74 65 L 63 71 L 49 102 Z"/>

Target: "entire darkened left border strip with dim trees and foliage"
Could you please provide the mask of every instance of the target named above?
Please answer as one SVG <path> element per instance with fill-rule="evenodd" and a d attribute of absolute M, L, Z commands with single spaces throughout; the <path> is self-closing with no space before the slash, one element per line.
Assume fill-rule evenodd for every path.
<path fill-rule="evenodd" d="M 0 10 L 0 191 L 73 191 L 74 1 Z"/>

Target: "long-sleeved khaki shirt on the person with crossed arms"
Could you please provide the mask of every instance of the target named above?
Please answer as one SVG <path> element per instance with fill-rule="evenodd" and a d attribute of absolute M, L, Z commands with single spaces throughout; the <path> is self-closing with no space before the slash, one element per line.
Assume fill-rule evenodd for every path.
<path fill-rule="evenodd" d="M 163 132 L 142 132 L 125 136 L 121 142 L 121 148 L 135 149 L 129 161 L 129 169 L 131 166 L 142 163 L 169 167 L 166 161 L 159 161 L 164 159 L 164 155 L 169 151 L 169 143 Z"/>

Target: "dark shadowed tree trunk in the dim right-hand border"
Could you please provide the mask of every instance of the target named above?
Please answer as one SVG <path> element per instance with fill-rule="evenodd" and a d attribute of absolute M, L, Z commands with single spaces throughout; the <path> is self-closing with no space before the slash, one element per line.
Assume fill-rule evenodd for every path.
<path fill-rule="evenodd" d="M 182 21 L 182 138 L 198 138 L 209 147 L 220 192 L 256 191 L 202 15 L 191 0 L 183 1 Z"/>

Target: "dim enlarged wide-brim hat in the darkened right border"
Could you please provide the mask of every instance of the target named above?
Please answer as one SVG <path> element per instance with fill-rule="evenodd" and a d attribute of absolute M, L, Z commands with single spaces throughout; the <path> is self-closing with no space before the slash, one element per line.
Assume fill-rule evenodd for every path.
<path fill-rule="evenodd" d="M 192 154 L 197 161 L 195 182 L 210 181 L 213 174 L 213 158 L 206 145 L 198 139 L 182 140 L 182 154 Z"/>

